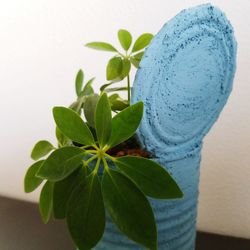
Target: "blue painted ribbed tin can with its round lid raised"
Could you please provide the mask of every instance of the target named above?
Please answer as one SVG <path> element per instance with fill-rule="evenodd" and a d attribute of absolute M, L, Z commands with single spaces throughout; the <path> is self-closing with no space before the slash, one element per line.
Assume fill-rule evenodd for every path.
<path fill-rule="evenodd" d="M 195 249 L 202 140 L 232 90 L 235 58 L 230 23 L 206 4 L 183 10 L 166 23 L 141 61 L 132 98 L 145 104 L 138 137 L 185 195 L 182 200 L 150 200 L 160 250 Z M 143 248 L 121 235 L 108 218 L 95 249 Z"/>

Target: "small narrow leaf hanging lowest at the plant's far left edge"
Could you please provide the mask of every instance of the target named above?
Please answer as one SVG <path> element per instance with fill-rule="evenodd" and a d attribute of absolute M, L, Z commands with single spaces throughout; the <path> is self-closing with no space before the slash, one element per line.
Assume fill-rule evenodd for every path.
<path fill-rule="evenodd" d="M 54 184 L 47 181 L 40 194 L 39 211 L 45 224 L 49 222 L 53 208 L 53 187 Z"/>

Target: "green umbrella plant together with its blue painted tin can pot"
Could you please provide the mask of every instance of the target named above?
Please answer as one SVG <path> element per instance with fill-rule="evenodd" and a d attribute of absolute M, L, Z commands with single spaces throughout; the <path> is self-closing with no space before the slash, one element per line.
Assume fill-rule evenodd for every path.
<path fill-rule="evenodd" d="M 232 90 L 236 41 L 210 4 L 180 12 L 152 37 L 131 46 L 119 30 L 123 52 L 87 44 L 114 53 L 108 82 L 94 93 L 80 70 L 77 100 L 53 109 L 58 146 L 32 150 L 25 191 L 44 182 L 43 221 L 52 212 L 66 219 L 79 249 L 195 249 L 202 141 Z M 131 96 L 130 68 L 139 64 Z"/>

